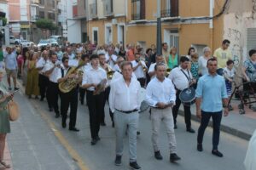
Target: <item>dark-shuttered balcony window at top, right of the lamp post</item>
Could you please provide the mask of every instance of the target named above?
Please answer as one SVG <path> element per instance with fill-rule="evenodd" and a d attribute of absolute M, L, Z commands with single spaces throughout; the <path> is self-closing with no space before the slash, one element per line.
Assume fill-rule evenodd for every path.
<path fill-rule="evenodd" d="M 161 0 L 161 17 L 178 16 L 178 0 Z"/>

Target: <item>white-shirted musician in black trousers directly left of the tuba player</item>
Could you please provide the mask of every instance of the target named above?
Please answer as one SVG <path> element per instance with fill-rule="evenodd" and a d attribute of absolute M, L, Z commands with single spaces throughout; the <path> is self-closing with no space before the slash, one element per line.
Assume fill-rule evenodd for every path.
<path fill-rule="evenodd" d="M 55 111 L 55 117 L 60 117 L 59 105 L 58 105 L 58 96 L 59 96 L 59 87 L 57 81 L 58 71 L 61 69 L 60 65 L 57 65 L 57 54 L 51 54 L 50 63 L 45 65 L 45 75 L 49 77 L 49 87 L 46 90 L 47 99 L 49 103 L 53 106 Z M 50 110 L 51 108 L 49 108 Z"/>

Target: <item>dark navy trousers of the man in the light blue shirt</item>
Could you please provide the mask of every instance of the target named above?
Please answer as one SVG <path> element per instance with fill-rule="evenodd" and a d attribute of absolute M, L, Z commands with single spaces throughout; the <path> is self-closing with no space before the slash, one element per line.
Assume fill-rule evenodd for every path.
<path fill-rule="evenodd" d="M 202 144 L 204 133 L 211 117 L 212 117 L 212 127 L 213 127 L 212 150 L 218 150 L 222 111 L 218 111 L 218 112 L 201 111 L 201 124 L 200 124 L 200 127 L 198 128 L 197 143 Z"/>

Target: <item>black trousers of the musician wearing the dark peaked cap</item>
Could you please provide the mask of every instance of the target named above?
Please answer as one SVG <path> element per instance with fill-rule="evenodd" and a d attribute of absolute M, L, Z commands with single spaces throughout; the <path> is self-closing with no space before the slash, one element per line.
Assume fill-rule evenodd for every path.
<path fill-rule="evenodd" d="M 96 139 L 100 131 L 100 122 L 102 112 L 104 110 L 105 93 L 93 95 L 92 91 L 86 91 L 86 99 L 88 102 L 89 116 L 90 116 L 90 136 Z"/>

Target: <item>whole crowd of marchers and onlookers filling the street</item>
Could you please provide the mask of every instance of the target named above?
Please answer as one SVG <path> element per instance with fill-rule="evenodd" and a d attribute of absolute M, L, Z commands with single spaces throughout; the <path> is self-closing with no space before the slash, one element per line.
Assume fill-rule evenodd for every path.
<path fill-rule="evenodd" d="M 104 107 L 108 101 L 112 127 L 116 130 L 115 165 L 121 164 L 123 139 L 129 136 L 130 166 L 140 169 L 137 164 L 137 135 L 141 101 L 140 90 L 146 88 L 145 101 L 150 106 L 152 121 L 152 144 L 154 156 L 161 160 L 158 147 L 160 122 L 166 125 L 170 161 L 178 161 L 174 129 L 177 128 L 177 113 L 182 104 L 179 94 L 186 88 L 196 89 L 196 116 L 201 118 L 198 129 L 197 150 L 202 151 L 204 131 L 210 117 L 213 120 L 212 154 L 222 157 L 218 151 L 219 127 L 223 107 L 224 116 L 228 115 L 231 106 L 228 98 L 232 81 L 236 74 L 229 40 L 214 51 L 203 48 L 199 57 L 196 49 L 191 47 L 188 55 L 178 56 L 177 48 L 168 48 L 162 44 L 162 54 L 156 54 L 155 45 L 144 52 L 139 45 L 123 47 L 116 45 L 69 44 L 63 47 L 7 47 L 0 48 L 0 82 L 6 72 L 8 88 L 5 92 L 18 90 L 16 77 L 20 78 L 29 99 L 44 101 L 46 98 L 49 111 L 55 117 L 61 116 L 61 126 L 67 127 L 67 111 L 70 109 L 68 129 L 78 132 L 76 126 L 79 102 L 86 105 L 90 113 L 91 145 L 100 141 L 100 127 L 106 126 Z M 251 50 L 250 59 L 243 65 L 247 81 L 256 82 L 256 51 Z M 218 71 L 222 72 L 218 75 Z M 12 86 L 11 79 L 14 86 Z M 212 84 L 214 83 L 214 86 Z M 5 98 L 4 97 L 4 98 Z M 61 102 L 59 102 L 59 99 Z M 5 99 L 0 99 L 0 104 Z M 188 133 L 195 133 L 191 127 L 190 105 L 183 105 L 184 120 Z M 6 110 L 1 110 L 3 112 Z M 0 114 L 0 164 L 3 162 L 3 149 L 6 133 L 9 133 L 8 118 Z M 4 122 L 5 121 L 5 122 Z M 2 123 L 4 122 L 4 123 Z"/>

